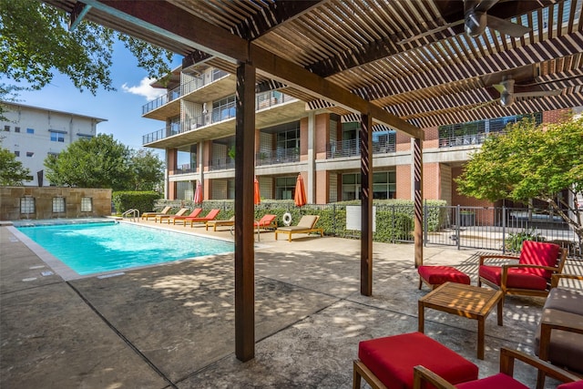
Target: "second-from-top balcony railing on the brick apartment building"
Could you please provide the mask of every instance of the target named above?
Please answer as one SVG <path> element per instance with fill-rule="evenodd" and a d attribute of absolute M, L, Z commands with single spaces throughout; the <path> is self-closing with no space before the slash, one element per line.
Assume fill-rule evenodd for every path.
<path fill-rule="evenodd" d="M 228 75 L 228 74 L 227 74 Z M 265 107 L 273 107 L 281 105 L 283 103 L 288 103 L 290 101 L 296 101 L 297 98 L 290 97 L 282 94 L 281 92 L 265 92 L 257 95 L 256 100 L 256 110 L 264 109 Z M 260 104 L 261 99 L 261 104 Z M 205 123 L 204 115 L 200 115 L 197 118 L 185 120 L 180 122 L 178 125 L 173 125 L 171 127 L 160 128 L 158 131 L 151 132 L 142 136 L 142 144 L 148 144 L 155 142 L 163 138 L 169 138 L 173 135 L 178 135 L 183 132 L 192 131 L 202 126 L 207 126 L 212 123 L 217 123 L 228 118 L 235 118 L 236 116 L 235 103 L 227 107 L 215 108 L 212 110 L 212 115 L 210 116 L 210 123 Z"/>

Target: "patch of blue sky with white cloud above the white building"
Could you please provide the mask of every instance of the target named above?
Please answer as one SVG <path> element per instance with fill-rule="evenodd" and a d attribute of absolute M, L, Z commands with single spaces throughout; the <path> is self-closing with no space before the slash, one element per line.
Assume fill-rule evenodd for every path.
<path fill-rule="evenodd" d="M 178 66 L 180 60 L 177 57 L 173 67 Z M 87 90 L 79 92 L 68 77 L 55 72 L 51 84 L 41 90 L 20 92 L 18 102 L 105 118 L 107 121 L 97 125 L 97 134 L 111 134 L 129 148 L 141 148 L 143 135 L 164 127 L 163 121 L 142 118 L 142 106 L 163 91 L 149 87 L 148 73 L 138 67 L 136 58 L 122 44 L 114 47 L 112 62 L 115 92 L 99 89 L 96 96 Z"/>

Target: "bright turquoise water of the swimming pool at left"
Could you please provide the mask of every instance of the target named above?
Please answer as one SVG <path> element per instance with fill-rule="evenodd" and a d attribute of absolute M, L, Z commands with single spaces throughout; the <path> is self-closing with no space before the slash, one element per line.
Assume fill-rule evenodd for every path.
<path fill-rule="evenodd" d="M 127 270 L 234 251 L 234 244 L 127 223 L 19 227 L 78 274 Z"/>

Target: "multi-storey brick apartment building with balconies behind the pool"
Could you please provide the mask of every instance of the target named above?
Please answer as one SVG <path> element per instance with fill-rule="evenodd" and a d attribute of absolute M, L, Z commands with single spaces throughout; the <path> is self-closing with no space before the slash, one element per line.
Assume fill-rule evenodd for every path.
<path fill-rule="evenodd" d="M 166 198 L 191 200 L 200 181 L 205 200 L 234 198 L 235 82 L 212 67 L 176 69 L 167 93 L 143 107 L 144 118 L 163 128 L 143 145 L 166 150 Z M 162 87 L 159 83 L 154 87 Z M 269 90 L 256 95 L 255 175 L 261 198 L 292 199 L 298 173 L 309 203 L 356 200 L 360 196 L 358 118 L 341 118 L 326 107 L 308 107 Z M 536 114 L 552 121 L 557 112 Z M 424 198 L 447 204 L 492 205 L 455 191 L 455 178 L 490 133 L 519 117 L 424 128 Z M 411 139 L 390 128 L 373 128 L 373 198 L 412 199 Z"/>

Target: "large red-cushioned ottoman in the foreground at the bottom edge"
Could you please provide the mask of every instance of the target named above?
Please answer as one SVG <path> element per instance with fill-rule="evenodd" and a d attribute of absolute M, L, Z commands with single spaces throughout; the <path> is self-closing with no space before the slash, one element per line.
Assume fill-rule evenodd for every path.
<path fill-rule="evenodd" d="M 353 388 L 361 376 L 373 388 L 413 388 L 413 368 L 421 364 L 451 384 L 477 379 L 477 366 L 423 333 L 403 333 L 358 344 Z"/>

